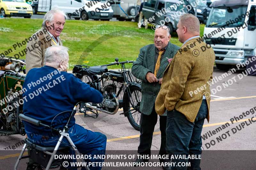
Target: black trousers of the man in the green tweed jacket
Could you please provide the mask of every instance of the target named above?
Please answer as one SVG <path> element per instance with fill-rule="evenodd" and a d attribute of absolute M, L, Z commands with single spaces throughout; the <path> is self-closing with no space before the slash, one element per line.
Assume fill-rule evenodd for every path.
<path fill-rule="evenodd" d="M 141 114 L 140 116 L 140 145 L 138 153 L 140 155 L 150 155 L 151 145 L 153 139 L 153 132 L 157 122 L 157 113 L 155 106 L 150 115 Z M 161 147 L 159 155 L 167 155 L 166 146 L 166 116 L 160 116 L 160 131 L 161 131 Z M 167 161 L 167 160 L 160 160 Z"/>

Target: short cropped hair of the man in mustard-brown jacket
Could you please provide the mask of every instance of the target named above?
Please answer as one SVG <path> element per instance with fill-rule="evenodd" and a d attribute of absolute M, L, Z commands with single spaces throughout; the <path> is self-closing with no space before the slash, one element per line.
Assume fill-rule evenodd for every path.
<path fill-rule="evenodd" d="M 199 19 L 192 14 L 186 13 L 181 15 L 180 24 L 181 26 L 186 26 L 189 33 L 200 33 Z"/>

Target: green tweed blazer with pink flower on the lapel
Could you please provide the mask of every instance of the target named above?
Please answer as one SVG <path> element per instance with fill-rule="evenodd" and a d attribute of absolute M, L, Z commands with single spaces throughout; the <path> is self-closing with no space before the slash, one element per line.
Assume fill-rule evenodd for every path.
<path fill-rule="evenodd" d="M 167 58 L 172 58 L 178 51 L 178 49 L 180 49 L 180 47 L 169 42 L 168 47 L 166 48 L 164 56 L 161 60 L 160 68 L 157 72 L 156 78 L 159 79 L 163 77 L 164 70 L 169 64 Z M 132 74 L 136 78 L 142 80 L 142 96 L 140 102 L 140 111 L 145 115 L 151 114 L 156 100 L 156 96 L 161 87 L 161 85 L 159 85 L 158 83 L 149 83 L 146 79 L 146 74 L 148 72 L 154 73 L 155 56 L 156 47 L 154 44 L 144 46 L 140 49 L 139 57 L 136 59 L 136 62 L 134 62 L 132 65 Z"/>

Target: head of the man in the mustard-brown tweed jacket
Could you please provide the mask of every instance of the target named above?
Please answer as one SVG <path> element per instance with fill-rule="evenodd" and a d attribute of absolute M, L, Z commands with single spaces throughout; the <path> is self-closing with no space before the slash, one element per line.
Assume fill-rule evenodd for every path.
<path fill-rule="evenodd" d="M 183 14 L 180 16 L 180 20 L 176 30 L 179 41 L 184 43 L 187 39 L 200 35 L 200 22 L 192 14 Z"/>

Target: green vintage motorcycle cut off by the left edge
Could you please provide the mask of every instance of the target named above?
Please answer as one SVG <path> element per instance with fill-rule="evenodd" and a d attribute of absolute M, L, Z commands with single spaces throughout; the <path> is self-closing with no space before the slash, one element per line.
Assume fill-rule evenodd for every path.
<path fill-rule="evenodd" d="M 19 120 L 23 113 L 22 85 L 26 76 L 20 75 L 26 61 L 0 55 L 0 135 L 25 135 L 25 129 Z"/>

